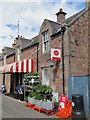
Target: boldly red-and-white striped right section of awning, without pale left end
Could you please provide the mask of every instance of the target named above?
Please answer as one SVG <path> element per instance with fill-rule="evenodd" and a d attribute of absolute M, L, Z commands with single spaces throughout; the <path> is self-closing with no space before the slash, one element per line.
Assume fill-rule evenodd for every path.
<path fill-rule="evenodd" d="M 22 61 L 15 62 L 10 67 L 10 72 L 34 72 L 34 61 L 33 59 L 24 59 Z"/>

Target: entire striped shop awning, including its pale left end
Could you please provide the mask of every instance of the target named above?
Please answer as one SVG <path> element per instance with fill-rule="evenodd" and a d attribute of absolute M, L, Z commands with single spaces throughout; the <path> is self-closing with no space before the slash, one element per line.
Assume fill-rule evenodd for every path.
<path fill-rule="evenodd" d="M 12 72 L 34 72 L 33 59 L 24 59 L 15 63 L 3 65 L 0 67 L 0 73 L 12 73 Z"/>

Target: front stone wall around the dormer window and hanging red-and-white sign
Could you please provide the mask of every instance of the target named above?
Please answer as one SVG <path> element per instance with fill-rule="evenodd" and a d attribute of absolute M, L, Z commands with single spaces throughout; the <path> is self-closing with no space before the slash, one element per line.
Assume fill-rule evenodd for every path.
<path fill-rule="evenodd" d="M 51 61 L 51 48 L 57 48 L 62 50 L 62 38 L 61 35 L 58 34 L 54 37 L 49 38 L 49 51 L 47 53 L 42 53 L 42 32 L 49 30 L 49 35 L 52 34 L 52 29 L 49 26 L 49 24 L 45 21 L 40 29 L 40 35 L 39 35 L 39 46 L 40 46 L 40 51 L 39 51 L 39 74 L 42 77 L 42 68 L 48 68 L 49 69 L 49 85 L 53 89 L 53 91 L 56 91 L 60 94 L 63 92 L 63 80 L 62 80 L 62 61 Z M 64 47 L 65 49 L 65 55 L 67 56 L 68 54 L 68 40 L 67 40 L 68 32 L 65 32 L 64 36 Z M 66 87 L 66 92 L 67 92 L 67 76 L 68 76 L 68 59 L 69 57 L 65 57 L 65 87 Z M 50 62 L 54 63 L 53 67 L 50 67 Z M 43 79 L 43 78 L 41 78 Z M 65 92 L 65 93 L 66 93 Z"/>

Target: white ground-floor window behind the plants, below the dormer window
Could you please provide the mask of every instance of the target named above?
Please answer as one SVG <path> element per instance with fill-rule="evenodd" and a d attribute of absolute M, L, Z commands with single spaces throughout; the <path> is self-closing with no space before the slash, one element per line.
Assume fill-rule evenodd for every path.
<path fill-rule="evenodd" d="M 42 85 L 49 86 L 49 69 L 48 68 L 42 69 Z"/>

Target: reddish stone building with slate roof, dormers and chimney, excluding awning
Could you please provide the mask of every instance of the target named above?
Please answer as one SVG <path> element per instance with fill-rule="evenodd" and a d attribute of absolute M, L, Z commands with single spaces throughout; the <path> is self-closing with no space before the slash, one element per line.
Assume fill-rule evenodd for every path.
<path fill-rule="evenodd" d="M 37 36 L 30 40 L 18 36 L 14 40 L 15 57 L 13 62 L 33 59 L 34 71 L 39 73 L 42 84 L 49 85 L 54 92 L 58 93 L 58 97 L 63 94 L 63 90 L 66 95 L 70 90 L 72 91 L 71 83 L 68 82 L 69 77 L 90 75 L 89 4 L 88 2 L 85 9 L 67 19 L 65 19 L 66 13 L 60 9 L 56 13 L 56 22 L 44 19 Z M 63 27 L 66 28 L 64 34 L 62 34 Z M 64 44 L 64 80 L 62 57 L 61 61 L 51 60 L 51 48 L 60 49 L 62 53 L 62 39 Z M 53 66 L 50 66 L 51 63 Z M 22 72 L 17 73 L 17 78 L 14 77 L 15 80 L 18 79 L 17 85 L 20 81 L 22 82 L 22 77 Z"/>

